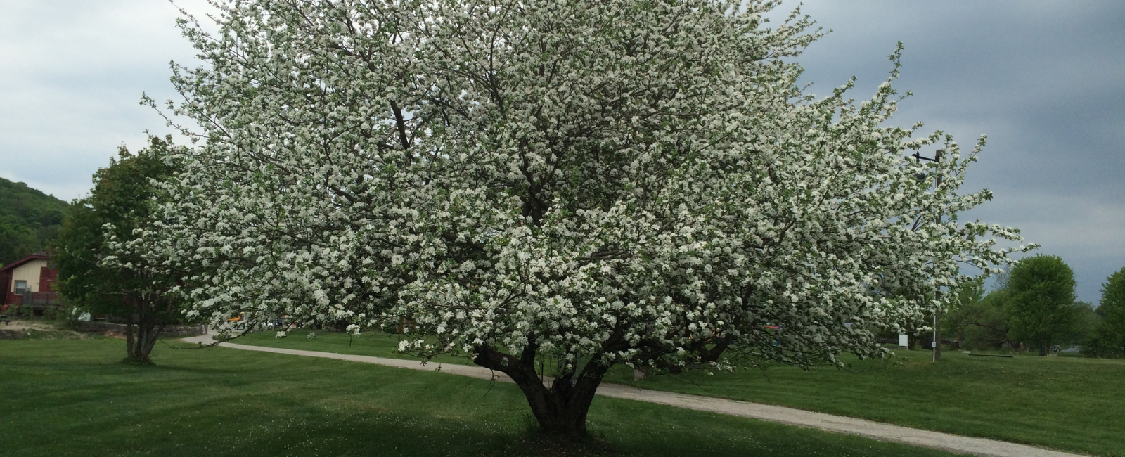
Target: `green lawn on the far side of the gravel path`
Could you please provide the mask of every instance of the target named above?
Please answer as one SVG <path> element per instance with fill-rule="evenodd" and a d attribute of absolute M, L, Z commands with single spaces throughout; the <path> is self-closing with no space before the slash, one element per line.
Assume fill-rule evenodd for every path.
<path fill-rule="evenodd" d="M 385 334 L 349 339 L 304 331 L 287 339 L 249 334 L 236 342 L 292 349 L 408 358 Z M 793 406 L 920 429 L 1125 457 L 1125 360 L 1016 356 L 972 357 L 897 350 L 891 361 L 850 360 L 850 370 L 772 367 L 706 376 L 655 376 L 632 383 L 631 370 L 610 382 L 642 388 Z M 465 364 L 464 358 L 443 360 Z M 601 398 L 598 401 L 602 401 Z"/>

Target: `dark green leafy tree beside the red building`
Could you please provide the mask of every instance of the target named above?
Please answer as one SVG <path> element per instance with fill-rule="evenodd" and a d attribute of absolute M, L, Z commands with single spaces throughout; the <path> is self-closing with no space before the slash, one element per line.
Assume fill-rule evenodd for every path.
<path fill-rule="evenodd" d="M 110 314 L 127 324 L 126 360 L 150 364 L 150 353 L 165 325 L 180 319 L 180 301 L 166 292 L 171 275 L 127 268 L 143 258 L 108 256 L 110 243 L 127 243 L 135 228 L 150 224 L 158 200 L 153 180 L 168 179 L 171 137 L 150 137 L 146 149 L 130 154 L 124 146 L 109 167 L 93 174 L 90 196 L 74 200 L 53 242 L 63 295 L 94 314 Z"/>

